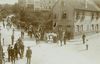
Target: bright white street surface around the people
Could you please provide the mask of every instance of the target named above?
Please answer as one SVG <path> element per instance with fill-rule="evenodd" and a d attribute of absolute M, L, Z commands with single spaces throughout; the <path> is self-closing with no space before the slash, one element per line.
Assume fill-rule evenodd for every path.
<path fill-rule="evenodd" d="M 1 25 L 1 34 L 4 38 L 4 52 L 7 58 L 7 46 L 11 44 L 12 28 L 7 30 Z M 20 30 L 15 30 L 15 41 L 20 36 Z M 87 36 L 89 50 L 82 44 L 81 37 L 67 41 L 66 46 L 41 41 L 36 45 L 35 39 L 30 39 L 25 34 L 25 50 L 28 46 L 32 49 L 31 64 L 100 64 L 100 33 Z M 25 51 L 26 52 L 26 51 Z M 24 54 L 23 59 L 16 60 L 15 64 L 27 64 Z M 11 64 L 6 62 L 5 64 Z"/>

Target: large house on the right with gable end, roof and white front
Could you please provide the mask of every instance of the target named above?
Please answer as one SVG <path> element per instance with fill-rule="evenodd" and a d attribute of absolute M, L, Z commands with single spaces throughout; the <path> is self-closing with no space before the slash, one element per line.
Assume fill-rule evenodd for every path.
<path fill-rule="evenodd" d="M 87 0 L 59 0 L 53 7 L 54 27 L 74 35 L 99 31 L 100 8 Z"/>

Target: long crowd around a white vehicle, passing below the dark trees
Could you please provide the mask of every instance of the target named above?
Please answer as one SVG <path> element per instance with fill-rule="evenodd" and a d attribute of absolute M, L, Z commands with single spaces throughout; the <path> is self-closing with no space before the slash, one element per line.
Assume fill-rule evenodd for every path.
<path fill-rule="evenodd" d="M 45 41 L 48 43 L 52 40 L 53 43 L 60 43 L 62 46 L 63 44 L 66 45 L 67 40 L 73 38 L 73 34 L 71 32 L 68 32 L 66 29 L 61 27 L 57 28 L 56 30 L 51 30 L 45 28 L 45 26 L 34 26 L 32 23 L 25 23 L 21 21 L 13 22 L 13 24 L 16 25 L 17 29 L 21 29 L 21 38 L 24 38 L 24 32 L 26 32 L 30 38 L 35 38 L 36 44 L 38 44 L 40 41 Z"/>

